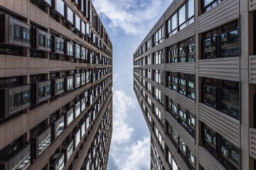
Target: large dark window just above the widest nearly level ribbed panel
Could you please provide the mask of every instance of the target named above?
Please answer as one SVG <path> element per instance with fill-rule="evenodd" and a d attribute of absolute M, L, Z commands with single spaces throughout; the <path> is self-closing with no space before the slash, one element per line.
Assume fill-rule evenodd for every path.
<path fill-rule="evenodd" d="M 203 34 L 203 59 L 239 56 L 238 21 Z"/>

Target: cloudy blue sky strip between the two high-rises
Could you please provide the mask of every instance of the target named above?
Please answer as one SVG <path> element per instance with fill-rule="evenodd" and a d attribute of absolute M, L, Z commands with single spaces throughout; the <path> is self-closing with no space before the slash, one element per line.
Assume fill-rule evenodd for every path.
<path fill-rule="evenodd" d="M 171 0 L 94 0 L 113 42 L 113 136 L 108 170 L 150 169 L 150 132 L 133 92 L 133 52 Z"/>

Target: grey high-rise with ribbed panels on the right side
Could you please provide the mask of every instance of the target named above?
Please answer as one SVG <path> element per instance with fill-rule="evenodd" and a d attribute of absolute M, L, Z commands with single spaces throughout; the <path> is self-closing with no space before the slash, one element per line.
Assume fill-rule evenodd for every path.
<path fill-rule="evenodd" d="M 151 169 L 256 169 L 255 4 L 174 0 L 135 50 Z"/>

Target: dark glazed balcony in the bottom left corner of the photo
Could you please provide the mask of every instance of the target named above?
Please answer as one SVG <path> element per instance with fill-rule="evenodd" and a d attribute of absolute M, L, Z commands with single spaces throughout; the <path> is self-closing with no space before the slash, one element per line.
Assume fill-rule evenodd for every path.
<path fill-rule="evenodd" d="M 1 152 L 0 167 L 5 170 L 24 170 L 30 166 L 30 144 L 15 141 Z"/>

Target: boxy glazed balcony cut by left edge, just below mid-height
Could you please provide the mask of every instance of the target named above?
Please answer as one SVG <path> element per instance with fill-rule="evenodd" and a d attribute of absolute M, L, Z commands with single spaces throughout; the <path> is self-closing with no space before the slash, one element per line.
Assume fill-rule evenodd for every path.
<path fill-rule="evenodd" d="M 0 89 L 0 118 L 8 118 L 30 107 L 30 85 Z"/>

